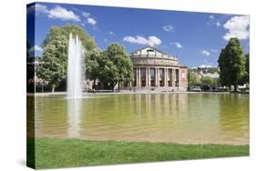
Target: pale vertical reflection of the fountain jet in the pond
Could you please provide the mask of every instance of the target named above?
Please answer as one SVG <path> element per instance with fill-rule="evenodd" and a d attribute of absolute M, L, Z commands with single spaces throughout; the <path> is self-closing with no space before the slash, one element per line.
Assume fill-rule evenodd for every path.
<path fill-rule="evenodd" d="M 67 135 L 68 137 L 80 136 L 80 115 L 81 115 L 81 99 L 67 99 Z"/>

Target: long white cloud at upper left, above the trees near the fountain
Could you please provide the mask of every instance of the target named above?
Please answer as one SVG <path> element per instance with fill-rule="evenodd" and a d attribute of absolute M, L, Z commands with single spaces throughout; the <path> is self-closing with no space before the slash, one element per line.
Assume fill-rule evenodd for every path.
<path fill-rule="evenodd" d="M 80 21 L 78 15 L 75 15 L 73 11 L 68 11 L 66 8 L 56 6 L 48 12 L 49 18 L 61 19 L 64 21 Z"/>

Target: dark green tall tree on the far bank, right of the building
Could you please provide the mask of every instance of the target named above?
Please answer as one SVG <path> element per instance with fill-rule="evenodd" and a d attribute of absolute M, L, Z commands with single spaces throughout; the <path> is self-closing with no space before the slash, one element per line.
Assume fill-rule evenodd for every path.
<path fill-rule="evenodd" d="M 230 38 L 228 45 L 221 49 L 218 60 L 220 66 L 220 84 L 237 86 L 243 84 L 245 71 L 245 56 L 238 38 Z"/>

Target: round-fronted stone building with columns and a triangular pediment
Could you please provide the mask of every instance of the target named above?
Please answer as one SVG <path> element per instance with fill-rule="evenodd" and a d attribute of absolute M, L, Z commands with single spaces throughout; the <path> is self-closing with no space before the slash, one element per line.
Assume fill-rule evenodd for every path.
<path fill-rule="evenodd" d="M 178 58 L 147 46 L 130 54 L 134 67 L 134 87 L 188 87 L 185 65 Z"/>

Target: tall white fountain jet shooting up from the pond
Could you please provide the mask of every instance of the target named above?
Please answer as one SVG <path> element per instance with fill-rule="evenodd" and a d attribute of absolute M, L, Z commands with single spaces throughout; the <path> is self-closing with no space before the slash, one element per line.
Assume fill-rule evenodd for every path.
<path fill-rule="evenodd" d="M 78 36 L 70 33 L 67 53 L 67 98 L 82 96 L 83 47 Z"/>

